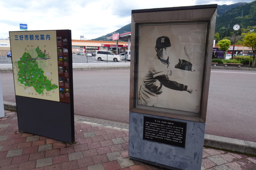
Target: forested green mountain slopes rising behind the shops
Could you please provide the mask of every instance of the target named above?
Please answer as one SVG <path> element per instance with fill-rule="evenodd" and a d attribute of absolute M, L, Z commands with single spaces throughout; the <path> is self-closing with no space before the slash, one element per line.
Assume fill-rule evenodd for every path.
<path fill-rule="evenodd" d="M 241 28 L 256 25 L 256 1 L 217 6 L 215 32 L 219 32 L 220 37 L 231 36 L 232 32 L 234 32 L 233 25 L 235 24 L 239 24 Z M 114 32 L 119 34 L 131 32 L 131 24 L 125 25 Z M 106 39 L 106 37 L 110 36 L 112 36 L 111 33 L 92 40 L 111 41 Z"/>

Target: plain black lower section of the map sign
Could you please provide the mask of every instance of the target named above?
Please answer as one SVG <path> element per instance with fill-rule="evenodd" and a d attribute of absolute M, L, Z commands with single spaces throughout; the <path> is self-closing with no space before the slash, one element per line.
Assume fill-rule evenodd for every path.
<path fill-rule="evenodd" d="M 69 103 L 16 96 L 19 131 L 75 142 L 74 113 Z"/>

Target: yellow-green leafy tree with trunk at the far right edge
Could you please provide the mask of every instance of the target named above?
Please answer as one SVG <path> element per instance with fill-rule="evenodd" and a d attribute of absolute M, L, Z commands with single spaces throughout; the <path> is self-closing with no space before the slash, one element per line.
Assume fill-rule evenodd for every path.
<path fill-rule="evenodd" d="M 256 55 L 256 33 L 244 33 L 244 46 L 252 49 L 252 68 L 255 68 L 255 55 Z"/>

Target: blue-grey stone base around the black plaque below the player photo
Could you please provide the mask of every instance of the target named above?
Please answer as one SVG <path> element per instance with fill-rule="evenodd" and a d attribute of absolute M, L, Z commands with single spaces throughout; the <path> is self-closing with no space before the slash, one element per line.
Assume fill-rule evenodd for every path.
<path fill-rule="evenodd" d="M 166 120 L 166 122 L 186 123 L 185 147 L 161 143 L 161 140 L 156 142 L 143 139 L 143 130 L 147 127 L 144 126 L 145 116 L 146 118 L 151 117 L 156 120 Z M 159 125 L 156 124 L 156 126 Z M 205 123 L 130 112 L 129 157 L 170 169 L 200 170 L 203 155 L 204 129 Z M 154 135 L 158 136 L 157 133 Z"/>

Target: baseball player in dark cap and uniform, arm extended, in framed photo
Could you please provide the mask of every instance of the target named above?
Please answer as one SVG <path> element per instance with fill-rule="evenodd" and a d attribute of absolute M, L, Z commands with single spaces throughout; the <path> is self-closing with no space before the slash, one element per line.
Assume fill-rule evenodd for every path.
<path fill-rule="evenodd" d="M 162 94 L 162 86 L 177 91 L 187 91 L 189 93 L 194 92 L 194 90 L 188 88 L 187 85 L 169 79 L 169 76 L 172 75 L 172 70 L 169 68 L 170 63 L 168 56 L 170 47 L 171 42 L 169 37 L 161 36 L 157 38 L 155 43 L 157 58 L 151 61 L 152 63 L 150 64 L 150 67 L 148 67 L 147 73 L 143 78 L 143 82 L 140 83 L 138 104 L 157 106 L 156 103 L 158 95 Z"/>

